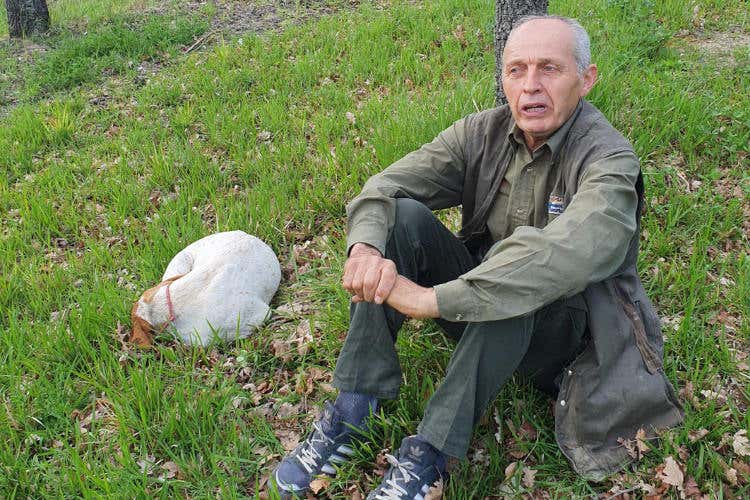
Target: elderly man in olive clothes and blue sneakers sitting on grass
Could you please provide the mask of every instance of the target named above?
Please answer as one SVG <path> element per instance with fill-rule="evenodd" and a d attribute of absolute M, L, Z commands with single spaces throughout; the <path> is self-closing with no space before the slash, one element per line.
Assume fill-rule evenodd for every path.
<path fill-rule="evenodd" d="M 575 20 L 521 19 L 503 53 L 508 105 L 455 122 L 349 204 L 340 392 L 276 470 L 282 494 L 335 474 L 378 401 L 398 396 L 406 316 L 435 318 L 457 344 L 417 434 L 368 498 L 422 498 L 514 372 L 556 398 L 557 442 L 586 477 L 627 461 L 618 438 L 681 421 L 636 270 L 638 158 L 584 100 L 590 59 Z M 432 210 L 458 205 L 455 236 Z"/>

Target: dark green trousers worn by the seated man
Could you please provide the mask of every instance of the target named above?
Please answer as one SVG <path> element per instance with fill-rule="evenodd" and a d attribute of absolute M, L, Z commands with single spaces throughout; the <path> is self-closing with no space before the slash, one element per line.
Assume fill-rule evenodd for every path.
<path fill-rule="evenodd" d="M 427 207 L 409 199 L 398 200 L 386 257 L 400 274 L 422 286 L 453 280 L 481 261 Z M 395 340 L 404 315 L 372 303 L 352 304 L 350 315 L 334 385 L 380 399 L 396 398 L 402 377 Z M 474 426 L 514 372 L 553 395 L 556 379 L 583 349 L 586 337 L 580 296 L 505 320 L 437 322 L 456 348 L 418 432 L 443 453 L 459 458 L 466 455 Z"/>

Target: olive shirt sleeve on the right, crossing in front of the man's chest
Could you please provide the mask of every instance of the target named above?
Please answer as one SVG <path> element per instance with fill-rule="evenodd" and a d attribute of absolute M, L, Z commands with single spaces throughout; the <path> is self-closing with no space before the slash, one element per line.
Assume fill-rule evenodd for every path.
<path fill-rule="evenodd" d="M 494 321 L 533 312 L 609 277 L 636 231 L 639 174 L 631 152 L 586 168 L 565 211 L 543 229 L 521 226 L 459 278 L 437 285 L 440 316 Z"/>

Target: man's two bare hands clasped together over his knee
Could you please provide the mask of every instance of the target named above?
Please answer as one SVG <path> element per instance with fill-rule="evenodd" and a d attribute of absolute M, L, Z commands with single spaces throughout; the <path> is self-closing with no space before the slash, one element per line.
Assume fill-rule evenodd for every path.
<path fill-rule="evenodd" d="M 435 290 L 401 276 L 396 264 L 364 243 L 356 243 L 344 264 L 342 285 L 352 302 L 386 303 L 412 318 L 437 318 Z"/>

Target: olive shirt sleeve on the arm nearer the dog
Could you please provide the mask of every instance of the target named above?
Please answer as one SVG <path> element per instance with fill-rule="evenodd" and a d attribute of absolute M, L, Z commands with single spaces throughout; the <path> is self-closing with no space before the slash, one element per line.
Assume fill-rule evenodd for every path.
<path fill-rule="evenodd" d="M 432 142 L 371 177 L 346 207 L 347 253 L 355 243 L 367 243 L 385 255 L 396 198 L 412 198 L 433 210 L 459 205 L 465 144 L 465 119 L 461 119 Z"/>

